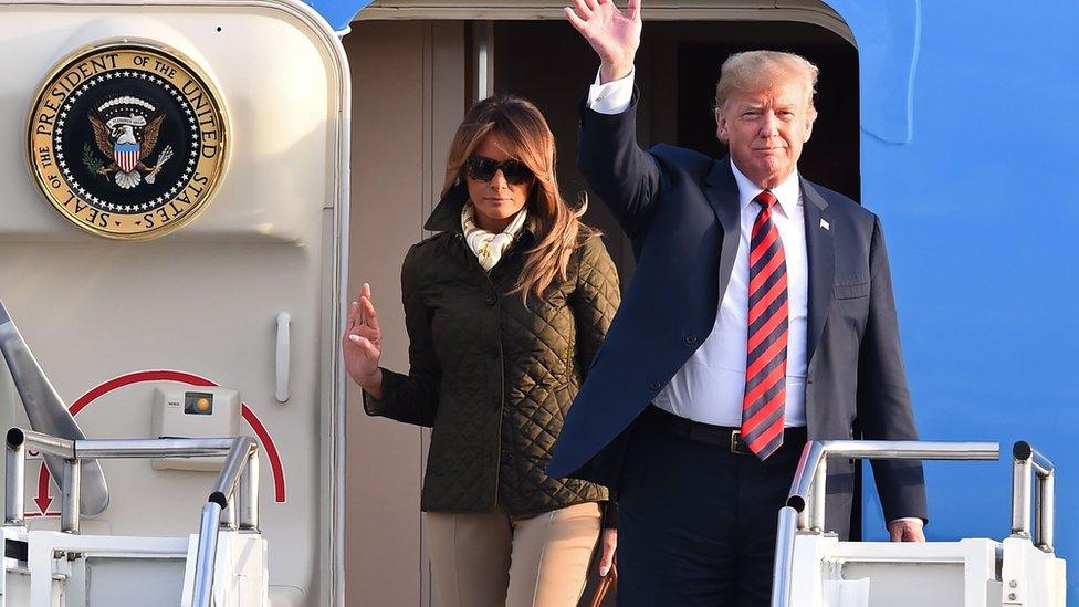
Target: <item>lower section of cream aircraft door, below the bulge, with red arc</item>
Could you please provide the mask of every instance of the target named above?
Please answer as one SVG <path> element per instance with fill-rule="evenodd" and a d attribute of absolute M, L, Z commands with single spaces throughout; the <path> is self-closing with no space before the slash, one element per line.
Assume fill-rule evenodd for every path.
<path fill-rule="evenodd" d="M 18 289 L 6 289 L 17 291 L 9 297 L 9 308 L 24 318 L 19 321 L 21 329 L 28 343 L 34 344 L 43 368 L 62 369 L 51 374 L 61 395 L 73 401 L 104 379 L 148 367 L 193 373 L 239 389 L 274 438 L 284 465 L 286 501 L 275 503 L 272 469 L 262 453 L 262 528 L 271 545 L 287 546 L 273 553 L 271 579 L 275 585 L 310 588 L 313 579 L 306 576 L 315 573 L 311 564 L 317 554 L 319 534 L 315 525 L 322 505 L 321 500 L 312 499 L 322 494 L 317 437 L 323 390 L 316 384 L 321 260 L 305 259 L 303 250 L 282 244 L 203 245 L 199 255 L 185 253 L 189 262 L 200 266 L 198 279 L 178 281 L 163 271 L 175 259 L 174 251 L 167 249 L 144 251 L 135 263 L 124 263 L 116 258 L 108 260 L 108 252 L 80 248 L 78 257 L 108 260 L 82 273 L 72 272 L 71 258 L 76 253 L 69 247 L 55 248 L 60 250 L 42 255 L 25 245 L 0 244 L 0 254 L 9 260 L 0 271 L 0 285 L 21 283 Z M 234 284 L 235 268 L 220 261 L 252 254 L 268 265 L 262 272 L 248 270 L 243 289 L 230 293 L 226 286 Z M 111 268 L 102 268 L 104 263 Z M 22 272 L 14 269 L 27 266 L 36 268 L 40 275 L 65 275 L 66 284 L 45 286 L 23 280 Z M 300 278 L 304 274 L 310 279 Z M 282 289 L 282 281 L 289 283 L 287 290 Z M 39 299 L 46 292 L 54 301 Z M 48 314 L 35 312 L 43 305 L 50 310 Z M 213 308 L 217 317 L 199 320 L 208 308 Z M 274 318 L 282 310 L 291 311 L 296 318 L 292 333 L 293 397 L 284 405 L 274 400 L 273 377 L 266 370 L 273 365 Z M 147 352 L 155 354 L 148 356 Z M 154 387 L 170 384 L 139 383 L 114 390 L 82 409 L 76 421 L 88 436 L 97 438 L 149 436 Z M 254 436 L 247 423 L 240 425 L 240 431 Z M 107 461 L 103 465 L 109 480 L 111 505 L 93 524 L 129 535 L 193 532 L 213 473 L 154 471 L 146 460 Z M 34 465 L 28 469 L 28 500 L 39 495 L 35 472 Z M 51 496 L 56 495 L 53 489 Z M 54 502 L 50 510 L 57 506 Z M 307 524 L 297 524 L 305 521 Z M 92 533 L 93 526 L 86 531 Z"/>

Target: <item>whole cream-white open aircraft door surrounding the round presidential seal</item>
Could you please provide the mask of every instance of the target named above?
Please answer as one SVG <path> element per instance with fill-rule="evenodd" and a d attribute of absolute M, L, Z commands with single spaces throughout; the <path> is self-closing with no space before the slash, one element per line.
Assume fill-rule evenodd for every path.
<path fill-rule="evenodd" d="M 191 223 L 149 242 L 107 241 L 50 208 L 28 170 L 30 106 L 54 65 L 119 38 L 185 55 L 213 83 L 230 156 L 213 199 Z M 240 43 L 239 41 L 243 41 Z M 192 374 L 239 390 L 240 433 L 264 429 L 261 528 L 272 586 L 305 604 L 339 600 L 337 462 L 341 224 L 347 220 L 349 77 L 339 41 L 298 2 L 187 2 L 77 7 L 0 1 L 0 296 L 62 398 L 147 369 Z M 290 391 L 275 399 L 276 318 L 292 317 Z M 329 369 L 328 373 L 326 369 Z M 156 387 L 140 380 L 84 402 L 90 438 L 151 433 Z M 25 423 L 0 379 L 3 423 Z M 216 472 L 154 470 L 148 460 L 103 462 L 112 503 L 84 533 L 186 535 L 198 527 Z M 279 478 L 275 478 L 279 477 Z M 27 470 L 33 528 L 55 528 L 55 485 Z M 276 481 L 276 482 L 275 482 Z M 281 482 L 283 481 L 283 482 Z M 39 498 L 40 503 L 34 499 Z M 50 501 L 51 500 L 51 501 Z M 36 514 L 36 515 L 34 515 Z M 276 546 L 276 547 L 274 547 Z M 295 595 L 295 592 L 293 592 Z"/>

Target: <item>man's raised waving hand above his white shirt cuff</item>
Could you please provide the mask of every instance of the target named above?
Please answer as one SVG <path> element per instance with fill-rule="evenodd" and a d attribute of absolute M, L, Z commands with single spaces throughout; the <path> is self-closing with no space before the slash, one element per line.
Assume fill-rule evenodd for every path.
<path fill-rule="evenodd" d="M 612 0 L 574 0 L 566 7 L 566 19 L 599 55 L 599 80 L 607 83 L 633 71 L 640 46 L 640 0 L 629 0 L 626 12 Z"/>

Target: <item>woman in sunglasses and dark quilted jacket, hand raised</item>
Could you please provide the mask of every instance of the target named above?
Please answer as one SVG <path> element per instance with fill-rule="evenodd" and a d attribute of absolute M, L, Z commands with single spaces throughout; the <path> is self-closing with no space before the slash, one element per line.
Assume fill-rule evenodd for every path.
<path fill-rule="evenodd" d="M 478 103 L 442 200 L 401 269 L 409 374 L 378 367 L 370 287 L 349 308 L 348 374 L 368 415 L 432 427 L 421 506 L 442 606 L 572 607 L 607 490 L 544 472 L 619 302 L 618 274 L 555 179 L 530 102 Z M 603 533 L 600 574 L 615 531 Z"/>

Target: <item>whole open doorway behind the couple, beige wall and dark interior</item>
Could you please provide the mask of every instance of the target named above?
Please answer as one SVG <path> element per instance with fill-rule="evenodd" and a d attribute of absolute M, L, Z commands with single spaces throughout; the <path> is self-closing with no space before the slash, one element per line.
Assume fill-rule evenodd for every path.
<path fill-rule="evenodd" d="M 494 88 L 533 100 L 547 117 L 557 138 L 558 176 L 567 197 L 586 191 L 576 168 L 577 115 L 598 62 L 558 18 L 561 3 L 535 8 L 506 2 L 493 8 L 443 2 L 434 8 L 394 1 L 378 0 L 365 9 L 343 41 L 354 91 L 348 292 L 356 293 L 364 282 L 371 284 L 384 331 L 381 362 L 405 370 L 408 337 L 399 305 L 401 260 L 412 243 L 430 236 L 423 222 L 438 202 L 450 140 L 476 87 L 478 74 L 471 67 L 473 30 L 491 29 L 486 51 Z M 716 3 L 716 11 L 723 9 L 721 4 Z M 738 1 L 740 7 L 748 4 Z M 661 21 L 653 19 L 658 10 L 649 11 L 637 63 L 643 93 L 640 143 L 670 143 L 724 155 L 711 111 L 722 61 L 745 49 L 797 52 L 821 69 L 820 117 L 799 168 L 807 178 L 858 200 L 857 51 L 821 25 L 744 20 L 744 13 L 751 12 L 751 17 L 783 12 L 783 18 L 824 19 L 819 11 L 793 13 L 776 9 L 774 2 L 761 4 L 737 12 L 734 18 L 742 19 L 737 21 Z M 808 7 L 815 1 L 786 4 Z M 670 12 L 674 9 L 667 10 L 663 19 L 677 17 Z M 505 20 L 478 21 L 499 11 L 516 12 Z M 841 24 L 838 15 L 828 22 Z M 598 200 L 589 205 L 585 219 L 606 233 L 625 287 L 633 268 L 627 239 Z M 428 431 L 366 417 L 354 385 L 348 401 L 346 606 L 436 607 L 419 513 Z M 856 522 L 852 528 L 860 525 Z M 585 596 L 590 596 L 590 589 Z"/>

